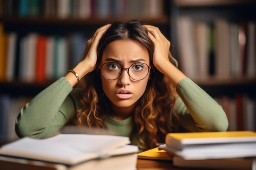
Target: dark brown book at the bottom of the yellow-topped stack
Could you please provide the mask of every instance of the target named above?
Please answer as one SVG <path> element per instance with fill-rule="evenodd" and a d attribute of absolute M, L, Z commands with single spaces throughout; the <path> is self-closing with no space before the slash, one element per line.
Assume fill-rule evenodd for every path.
<path fill-rule="evenodd" d="M 173 166 L 189 168 L 255 170 L 256 167 L 252 168 L 253 163 L 256 163 L 256 158 L 186 160 L 179 156 L 173 157 Z"/>

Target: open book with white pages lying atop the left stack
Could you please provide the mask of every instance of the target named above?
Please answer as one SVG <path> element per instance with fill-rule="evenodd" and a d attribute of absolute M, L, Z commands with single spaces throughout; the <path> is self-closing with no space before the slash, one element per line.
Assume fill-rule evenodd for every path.
<path fill-rule="evenodd" d="M 128 137 L 60 134 L 48 139 L 24 137 L 0 148 L 0 155 L 74 166 L 85 161 L 138 152 Z M 137 159 L 137 155 L 134 157 Z"/>

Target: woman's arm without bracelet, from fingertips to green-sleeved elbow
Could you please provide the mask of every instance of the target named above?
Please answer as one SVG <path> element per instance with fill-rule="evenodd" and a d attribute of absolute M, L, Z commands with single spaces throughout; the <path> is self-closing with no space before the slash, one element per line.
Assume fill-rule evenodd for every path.
<path fill-rule="evenodd" d="M 146 28 L 149 37 L 155 43 L 154 66 L 168 77 L 183 101 L 177 106 L 180 107 L 177 113 L 184 128 L 191 131 L 227 130 L 227 116 L 221 106 L 171 64 L 168 58 L 170 42 L 161 31 L 155 26 L 146 25 Z M 186 106 L 185 109 L 182 105 Z"/>

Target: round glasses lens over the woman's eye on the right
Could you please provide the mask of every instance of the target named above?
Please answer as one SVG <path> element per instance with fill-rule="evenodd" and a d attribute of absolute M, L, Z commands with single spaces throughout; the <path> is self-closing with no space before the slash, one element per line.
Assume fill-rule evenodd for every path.
<path fill-rule="evenodd" d="M 132 79 L 141 80 L 148 75 L 148 66 L 144 63 L 132 64 L 129 68 L 129 74 Z"/>

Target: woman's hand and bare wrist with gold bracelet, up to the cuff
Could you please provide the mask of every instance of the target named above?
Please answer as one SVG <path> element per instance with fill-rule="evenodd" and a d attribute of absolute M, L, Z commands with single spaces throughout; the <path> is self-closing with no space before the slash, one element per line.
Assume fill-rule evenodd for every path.
<path fill-rule="evenodd" d="M 76 72 L 81 79 L 87 73 L 92 72 L 97 66 L 97 46 L 99 44 L 99 40 L 101 39 L 102 35 L 105 31 L 109 28 L 111 24 L 104 25 L 96 30 L 96 32 L 92 35 L 92 38 L 87 41 L 87 45 L 84 52 L 84 59 L 79 62 L 73 68 L 73 71 Z M 76 76 L 73 73 L 67 73 L 65 75 L 66 79 L 70 82 L 72 86 L 76 85 Z"/>

